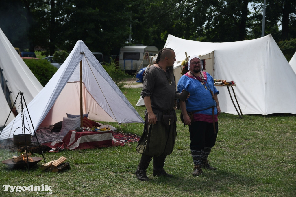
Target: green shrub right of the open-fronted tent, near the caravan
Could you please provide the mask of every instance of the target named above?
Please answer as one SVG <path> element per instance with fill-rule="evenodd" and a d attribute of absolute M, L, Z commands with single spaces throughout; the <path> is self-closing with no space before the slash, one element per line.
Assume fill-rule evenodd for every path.
<path fill-rule="evenodd" d="M 107 71 L 111 79 L 115 82 L 115 84 L 119 88 L 123 88 L 123 86 L 126 84 L 125 78 L 128 76 L 128 74 L 119 68 L 118 62 L 113 59 L 110 61 L 110 63 L 104 62 L 102 66 Z"/>

